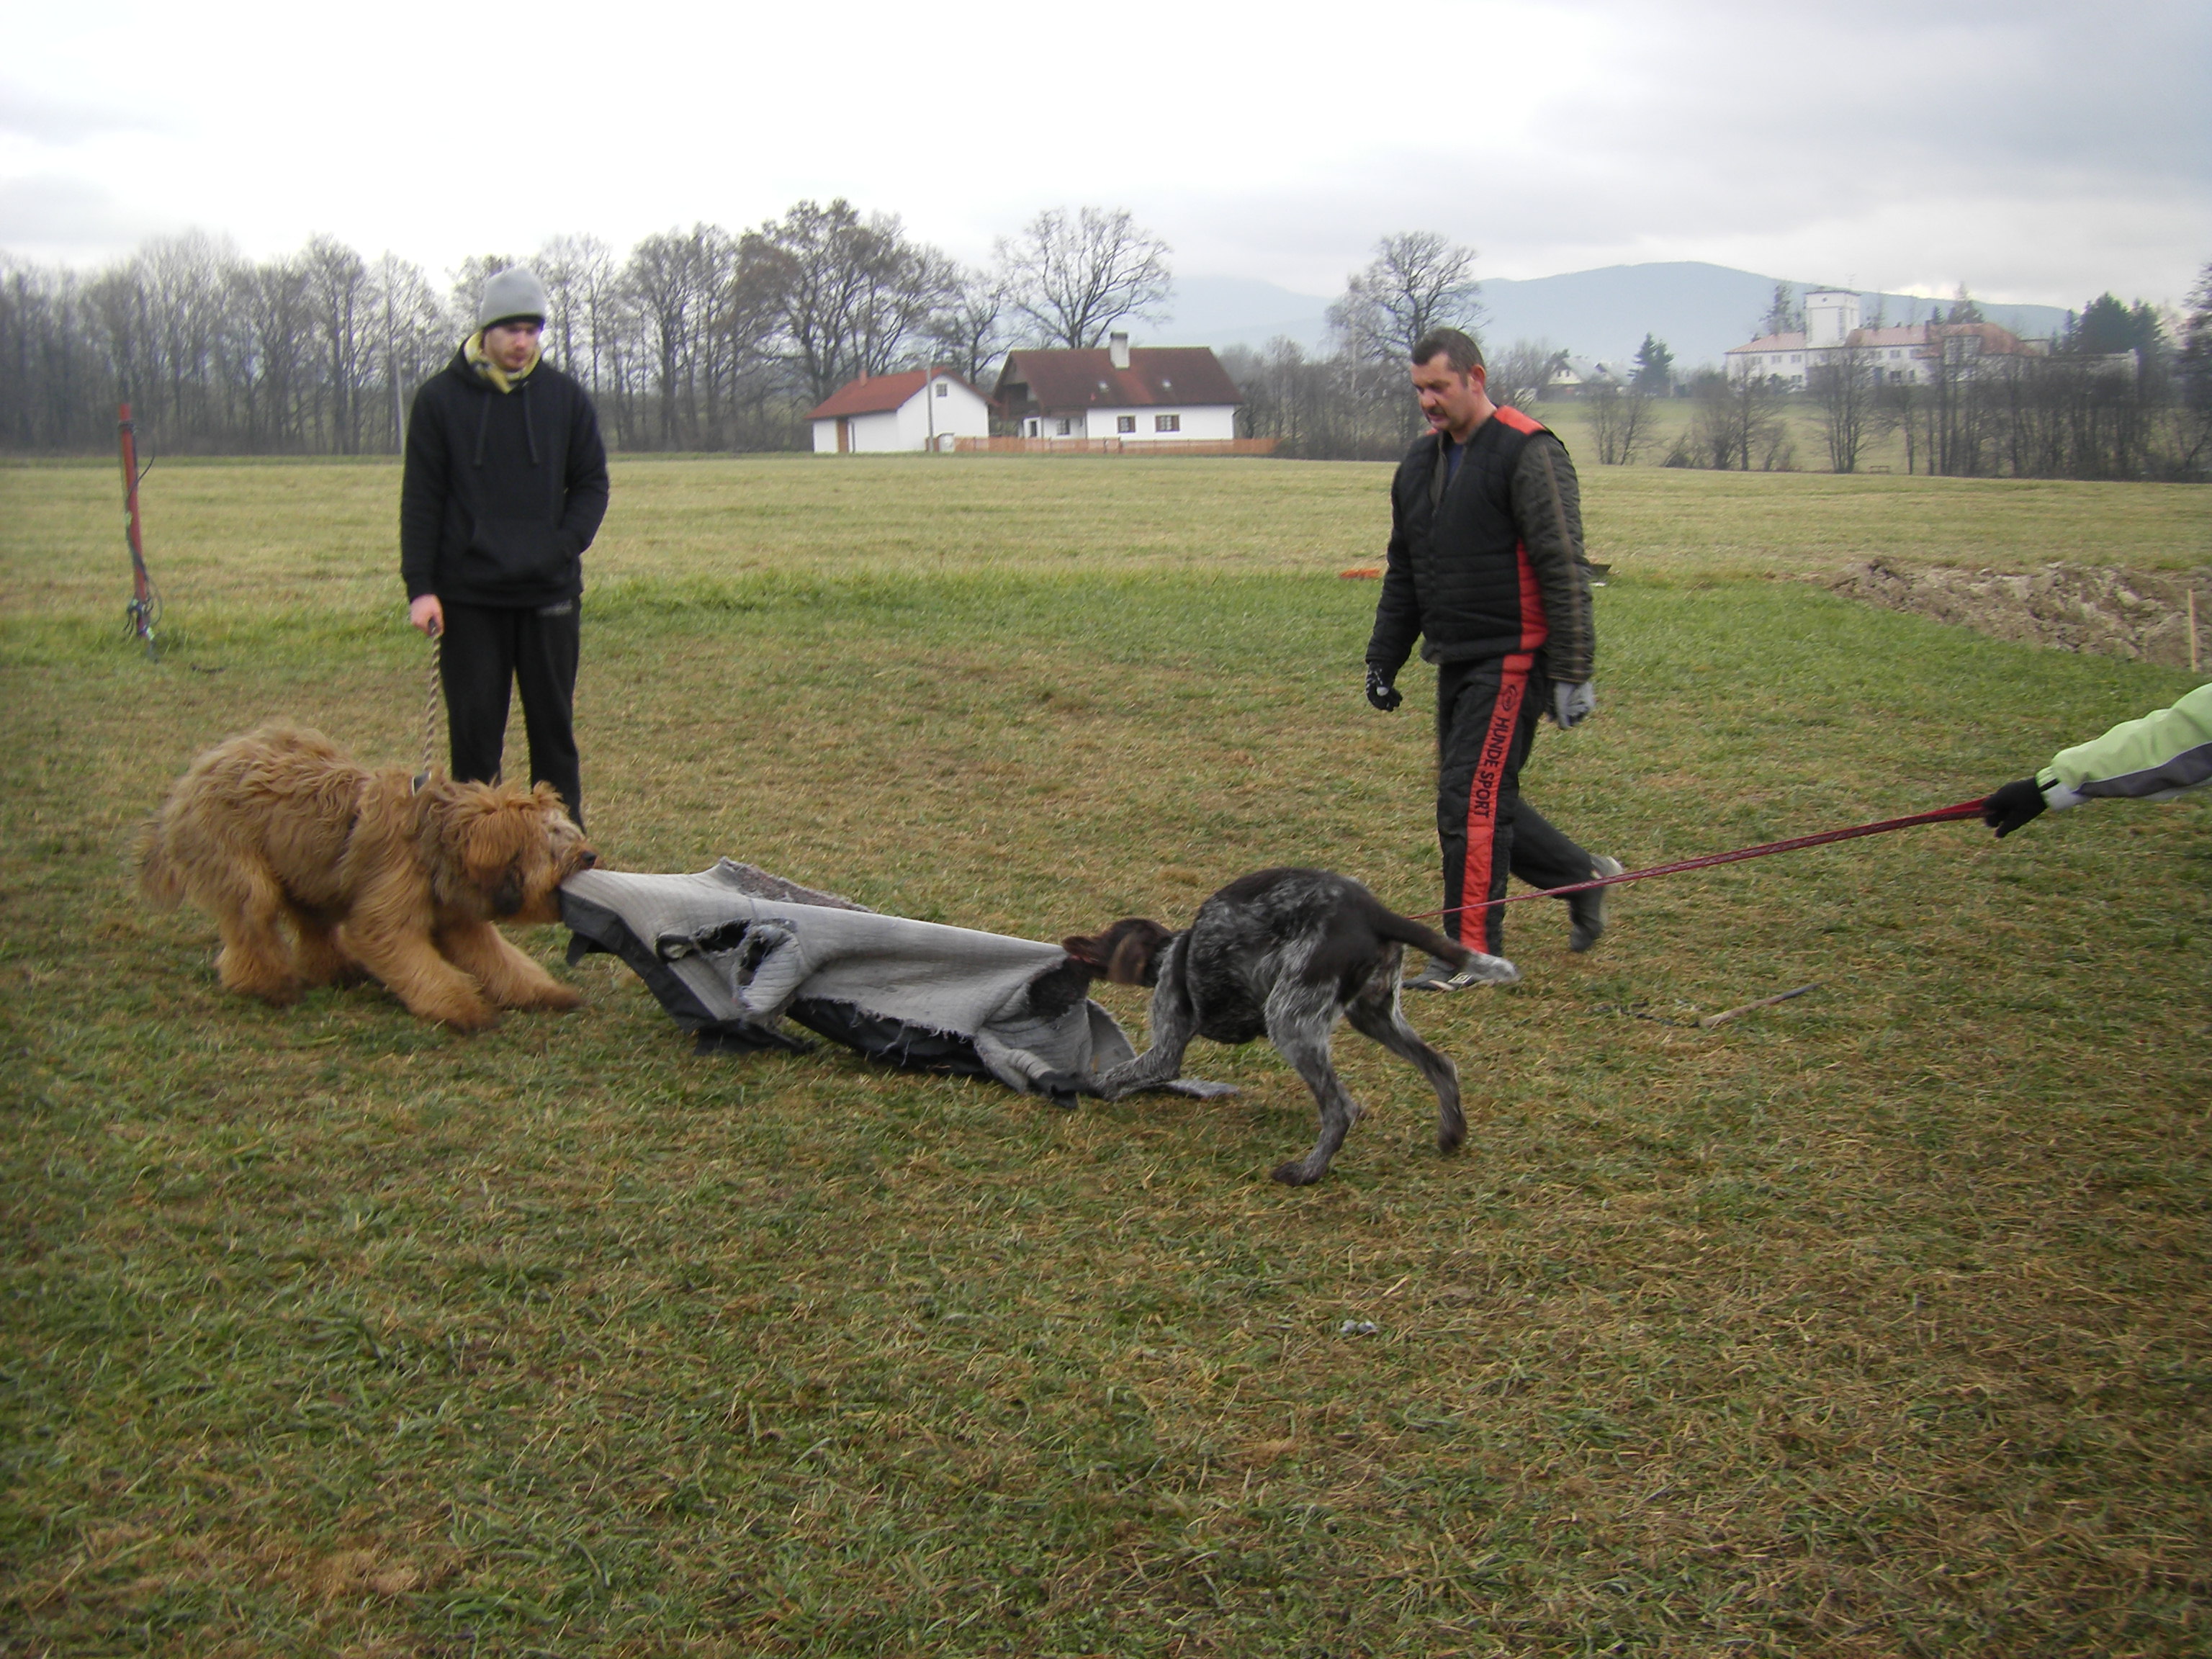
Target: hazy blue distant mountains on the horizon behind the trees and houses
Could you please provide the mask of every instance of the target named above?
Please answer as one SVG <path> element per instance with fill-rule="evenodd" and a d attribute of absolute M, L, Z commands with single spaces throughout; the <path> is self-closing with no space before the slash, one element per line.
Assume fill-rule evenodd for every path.
<path fill-rule="evenodd" d="M 1524 281 L 1493 276 L 1482 283 L 1482 305 L 1489 310 L 1482 341 L 1491 349 L 1515 341 L 1548 341 L 1575 356 L 1615 363 L 1632 356 L 1646 334 L 1657 334 L 1674 352 L 1679 369 L 1694 369 L 1719 363 L 1730 345 L 1752 338 L 1776 281 L 1783 279 L 1692 261 L 1606 265 Z M 1796 281 L 1798 294 L 1807 288 L 1823 283 Z M 1949 303 L 1876 292 L 1860 292 L 1858 299 L 1867 323 L 1876 314 L 1889 323 L 1920 323 Z M 1172 307 L 1166 323 L 1133 330 L 1139 343 L 1221 347 L 1265 345 L 1283 336 L 1307 352 L 1327 347 L 1325 296 L 1296 294 L 1250 276 L 1179 276 Z M 2048 338 L 2066 323 L 2059 305 L 1982 303 L 1982 314 L 2024 338 Z"/>

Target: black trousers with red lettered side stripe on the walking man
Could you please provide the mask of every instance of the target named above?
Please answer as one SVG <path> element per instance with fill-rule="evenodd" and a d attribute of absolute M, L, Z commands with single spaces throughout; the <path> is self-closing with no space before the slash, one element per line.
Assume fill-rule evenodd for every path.
<path fill-rule="evenodd" d="M 1590 854 L 1520 799 L 1542 699 L 1535 655 L 1449 661 L 1436 675 L 1436 838 L 1444 849 L 1444 931 L 1475 951 L 1504 956 L 1506 876 L 1531 887 L 1590 878 Z M 1564 900 L 1562 900 L 1564 902 Z"/>

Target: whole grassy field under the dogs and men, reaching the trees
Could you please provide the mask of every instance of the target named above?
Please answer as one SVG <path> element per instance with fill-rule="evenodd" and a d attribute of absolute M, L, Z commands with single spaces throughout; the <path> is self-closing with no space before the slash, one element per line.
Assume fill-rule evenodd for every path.
<path fill-rule="evenodd" d="M 624 462 L 595 841 L 1037 938 L 1263 863 L 1429 909 L 1431 681 L 1365 708 L 1336 575 L 1383 482 Z M 1369 1110 L 1287 1192 L 1265 1048 L 1194 1051 L 1228 1102 L 1060 1113 L 692 1057 L 608 958 L 473 1040 L 219 995 L 131 830 L 268 717 L 416 759 L 394 493 L 157 469 L 148 666 L 113 476 L 0 471 L 0 1652 L 2212 1648 L 2201 801 L 1635 885 L 1584 958 L 1515 907 L 1520 987 L 1413 1004 L 1467 1148 L 1347 1035 Z M 2192 564 L 2197 491 L 1588 493 L 1601 717 L 1528 792 L 1632 867 L 1973 796 L 2188 684 L 1761 577 Z"/>

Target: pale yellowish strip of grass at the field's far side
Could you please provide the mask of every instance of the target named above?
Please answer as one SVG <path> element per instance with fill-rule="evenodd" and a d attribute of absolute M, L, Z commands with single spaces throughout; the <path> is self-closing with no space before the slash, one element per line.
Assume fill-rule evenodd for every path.
<path fill-rule="evenodd" d="M 602 593 L 763 573 L 1334 575 L 1383 557 L 1387 480 L 1363 462 L 619 460 L 591 575 Z M 119 493 L 113 469 L 0 467 L 0 606 L 119 615 Z M 2026 571 L 2212 555 L 2192 484 L 1586 467 L 1584 498 L 1590 557 L 1646 580 L 1823 575 L 1865 557 Z M 148 473 L 144 520 L 177 619 L 398 606 L 396 465 L 173 462 Z"/>

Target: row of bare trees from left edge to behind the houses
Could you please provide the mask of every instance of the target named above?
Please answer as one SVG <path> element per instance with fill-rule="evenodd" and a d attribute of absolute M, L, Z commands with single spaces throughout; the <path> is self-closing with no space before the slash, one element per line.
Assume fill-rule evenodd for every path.
<path fill-rule="evenodd" d="M 168 237 L 95 272 L 0 254 L 0 447 L 106 449 L 128 400 L 170 453 L 392 453 L 414 389 L 473 332 L 484 276 L 526 263 L 546 283 L 546 354 L 617 449 L 790 449 L 854 376 L 927 361 L 987 383 L 1013 343 L 1091 347 L 1157 316 L 1168 252 L 1126 210 L 1048 208 L 978 270 L 838 199 L 628 254 L 555 237 L 442 285 L 334 237 L 259 261 Z"/>

